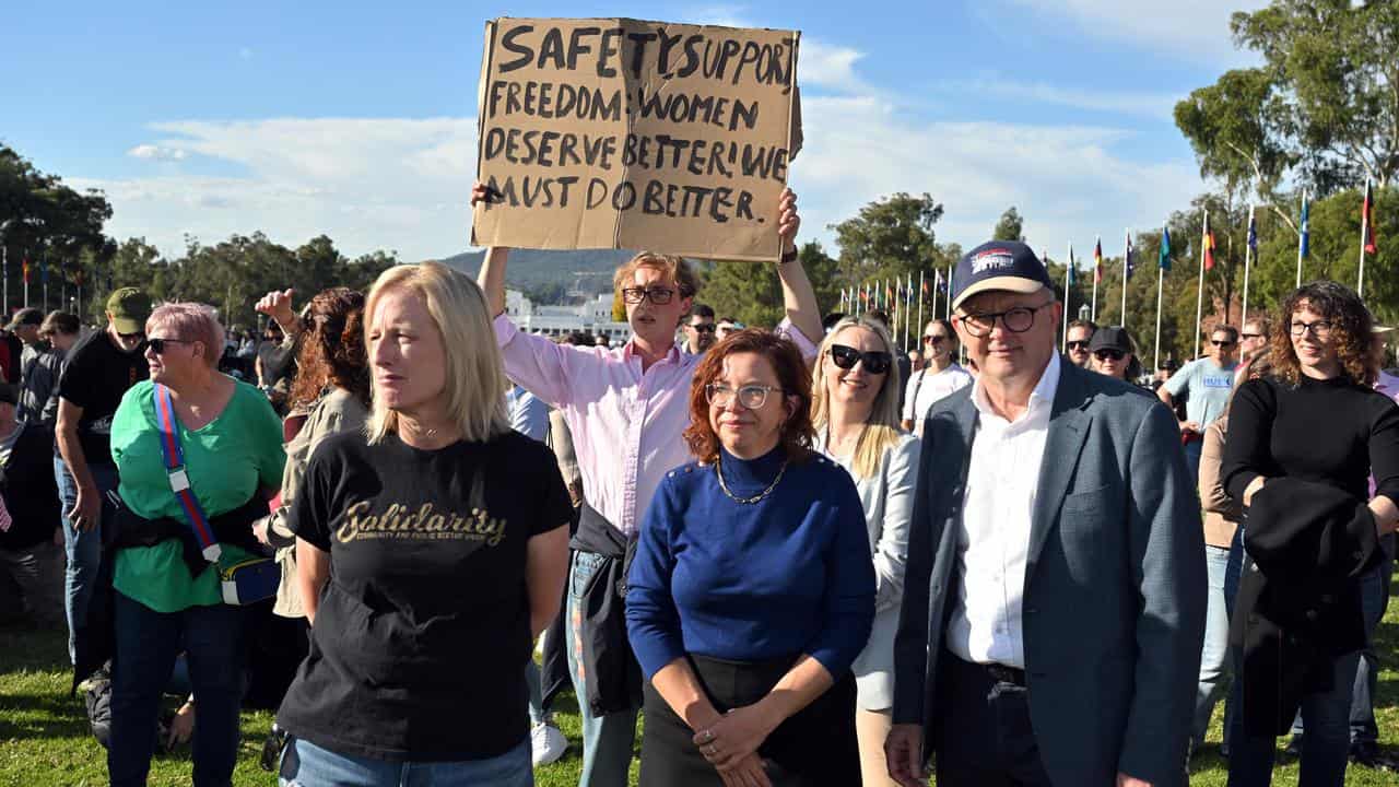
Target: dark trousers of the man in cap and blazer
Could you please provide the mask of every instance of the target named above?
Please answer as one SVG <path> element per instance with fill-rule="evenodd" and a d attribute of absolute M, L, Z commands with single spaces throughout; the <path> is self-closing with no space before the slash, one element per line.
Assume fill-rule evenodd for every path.
<path fill-rule="evenodd" d="M 1030 725 L 1030 692 L 943 653 L 937 787 L 1051 787 Z"/>

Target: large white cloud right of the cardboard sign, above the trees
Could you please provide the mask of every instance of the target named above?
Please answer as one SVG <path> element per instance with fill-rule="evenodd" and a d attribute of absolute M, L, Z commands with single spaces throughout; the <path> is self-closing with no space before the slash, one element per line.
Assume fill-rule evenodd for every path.
<path fill-rule="evenodd" d="M 919 123 L 876 98 L 811 98 L 803 113 L 806 147 L 792 174 L 810 234 L 828 237 L 827 224 L 890 193 L 929 192 L 946 206 L 935 227 L 943 241 L 979 244 L 1017 206 L 1027 238 L 1058 253 L 1069 241 L 1088 248 L 1094 234 L 1156 225 L 1200 189 L 1192 161 L 1115 155 L 1129 137 L 1121 129 Z"/>

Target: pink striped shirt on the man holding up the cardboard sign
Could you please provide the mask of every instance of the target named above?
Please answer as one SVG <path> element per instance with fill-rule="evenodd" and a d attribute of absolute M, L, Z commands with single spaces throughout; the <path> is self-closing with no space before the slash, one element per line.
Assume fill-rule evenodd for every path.
<path fill-rule="evenodd" d="M 816 344 L 789 321 L 778 332 L 802 357 L 816 356 Z M 495 340 L 506 377 L 564 413 L 588 504 L 623 534 L 635 534 L 660 479 L 691 459 L 681 433 L 704 356 L 676 344 L 642 372 L 632 342 L 617 350 L 555 344 L 520 332 L 504 314 L 495 318 Z"/>

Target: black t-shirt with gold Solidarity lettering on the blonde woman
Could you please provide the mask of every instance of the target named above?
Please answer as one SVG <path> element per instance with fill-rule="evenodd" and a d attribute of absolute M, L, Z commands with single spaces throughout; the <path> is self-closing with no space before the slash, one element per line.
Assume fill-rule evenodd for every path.
<path fill-rule="evenodd" d="M 311 654 L 278 724 L 353 756 L 470 760 L 529 735 L 526 543 L 568 524 L 541 443 L 420 451 L 389 436 L 325 440 L 288 525 L 330 553 Z"/>

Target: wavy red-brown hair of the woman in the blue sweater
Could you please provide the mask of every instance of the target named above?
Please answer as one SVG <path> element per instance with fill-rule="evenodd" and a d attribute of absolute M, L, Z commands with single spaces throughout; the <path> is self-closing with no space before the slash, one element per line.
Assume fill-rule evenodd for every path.
<path fill-rule="evenodd" d="M 782 395 L 796 398 L 792 416 L 782 424 L 781 444 L 788 459 L 793 462 L 809 459 L 811 445 L 816 443 L 816 430 L 811 427 L 811 372 L 796 344 L 758 328 L 730 333 L 709 347 L 695 368 L 694 382 L 690 384 L 690 427 L 684 434 L 690 452 L 705 464 L 713 464 L 719 458 L 719 436 L 709 426 L 709 399 L 705 396 L 705 386 L 723 374 L 723 360 L 736 353 L 754 353 L 767 358 L 776 374 L 778 385 L 782 386 Z"/>

